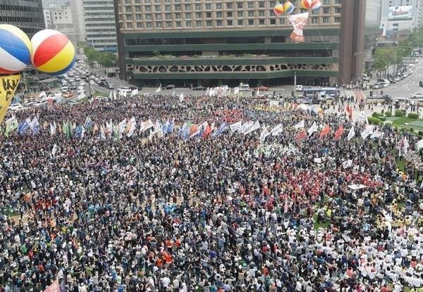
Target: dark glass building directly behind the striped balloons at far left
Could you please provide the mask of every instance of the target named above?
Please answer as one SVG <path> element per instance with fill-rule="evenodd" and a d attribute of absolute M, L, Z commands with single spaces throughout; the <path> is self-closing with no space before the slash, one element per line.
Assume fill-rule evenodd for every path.
<path fill-rule="evenodd" d="M 1 0 L 0 23 L 16 25 L 32 37 L 45 28 L 42 0 Z"/>

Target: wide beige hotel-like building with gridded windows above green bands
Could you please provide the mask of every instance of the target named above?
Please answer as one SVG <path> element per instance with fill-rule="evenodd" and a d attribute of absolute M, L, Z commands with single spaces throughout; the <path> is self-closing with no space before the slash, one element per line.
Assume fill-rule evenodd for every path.
<path fill-rule="evenodd" d="M 292 2 L 292 14 L 307 12 Z M 121 73 L 137 85 L 293 84 L 294 76 L 301 84 L 349 83 L 362 75 L 364 46 L 349 55 L 345 49 L 355 61 L 339 63 L 341 39 L 364 33 L 364 14 L 357 13 L 341 30 L 350 2 L 365 4 L 321 0 L 309 11 L 305 42 L 295 43 L 287 15 L 274 15 L 276 1 L 115 0 Z"/>

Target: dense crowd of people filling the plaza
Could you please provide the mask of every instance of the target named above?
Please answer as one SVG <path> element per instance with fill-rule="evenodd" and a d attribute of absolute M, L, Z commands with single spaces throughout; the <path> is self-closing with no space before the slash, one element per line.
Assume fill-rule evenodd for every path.
<path fill-rule="evenodd" d="M 362 139 L 366 123 L 343 113 L 268 103 L 154 95 L 16 113 L 42 129 L 0 138 L 0 291 L 55 281 L 64 291 L 421 291 L 422 170 L 398 169 L 405 134 L 380 127 L 383 137 Z M 47 126 L 87 117 L 84 137 Z M 99 133 L 132 117 L 176 127 Z M 264 141 L 262 129 L 179 134 L 188 121 L 239 120 L 283 130 Z M 332 131 L 295 141 L 302 120 Z"/>

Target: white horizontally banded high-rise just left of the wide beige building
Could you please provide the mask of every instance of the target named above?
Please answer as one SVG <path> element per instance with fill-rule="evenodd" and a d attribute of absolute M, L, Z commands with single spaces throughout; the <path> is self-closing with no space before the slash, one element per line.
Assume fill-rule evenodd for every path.
<path fill-rule="evenodd" d="M 97 51 L 116 52 L 113 0 L 83 0 L 87 44 Z"/>

